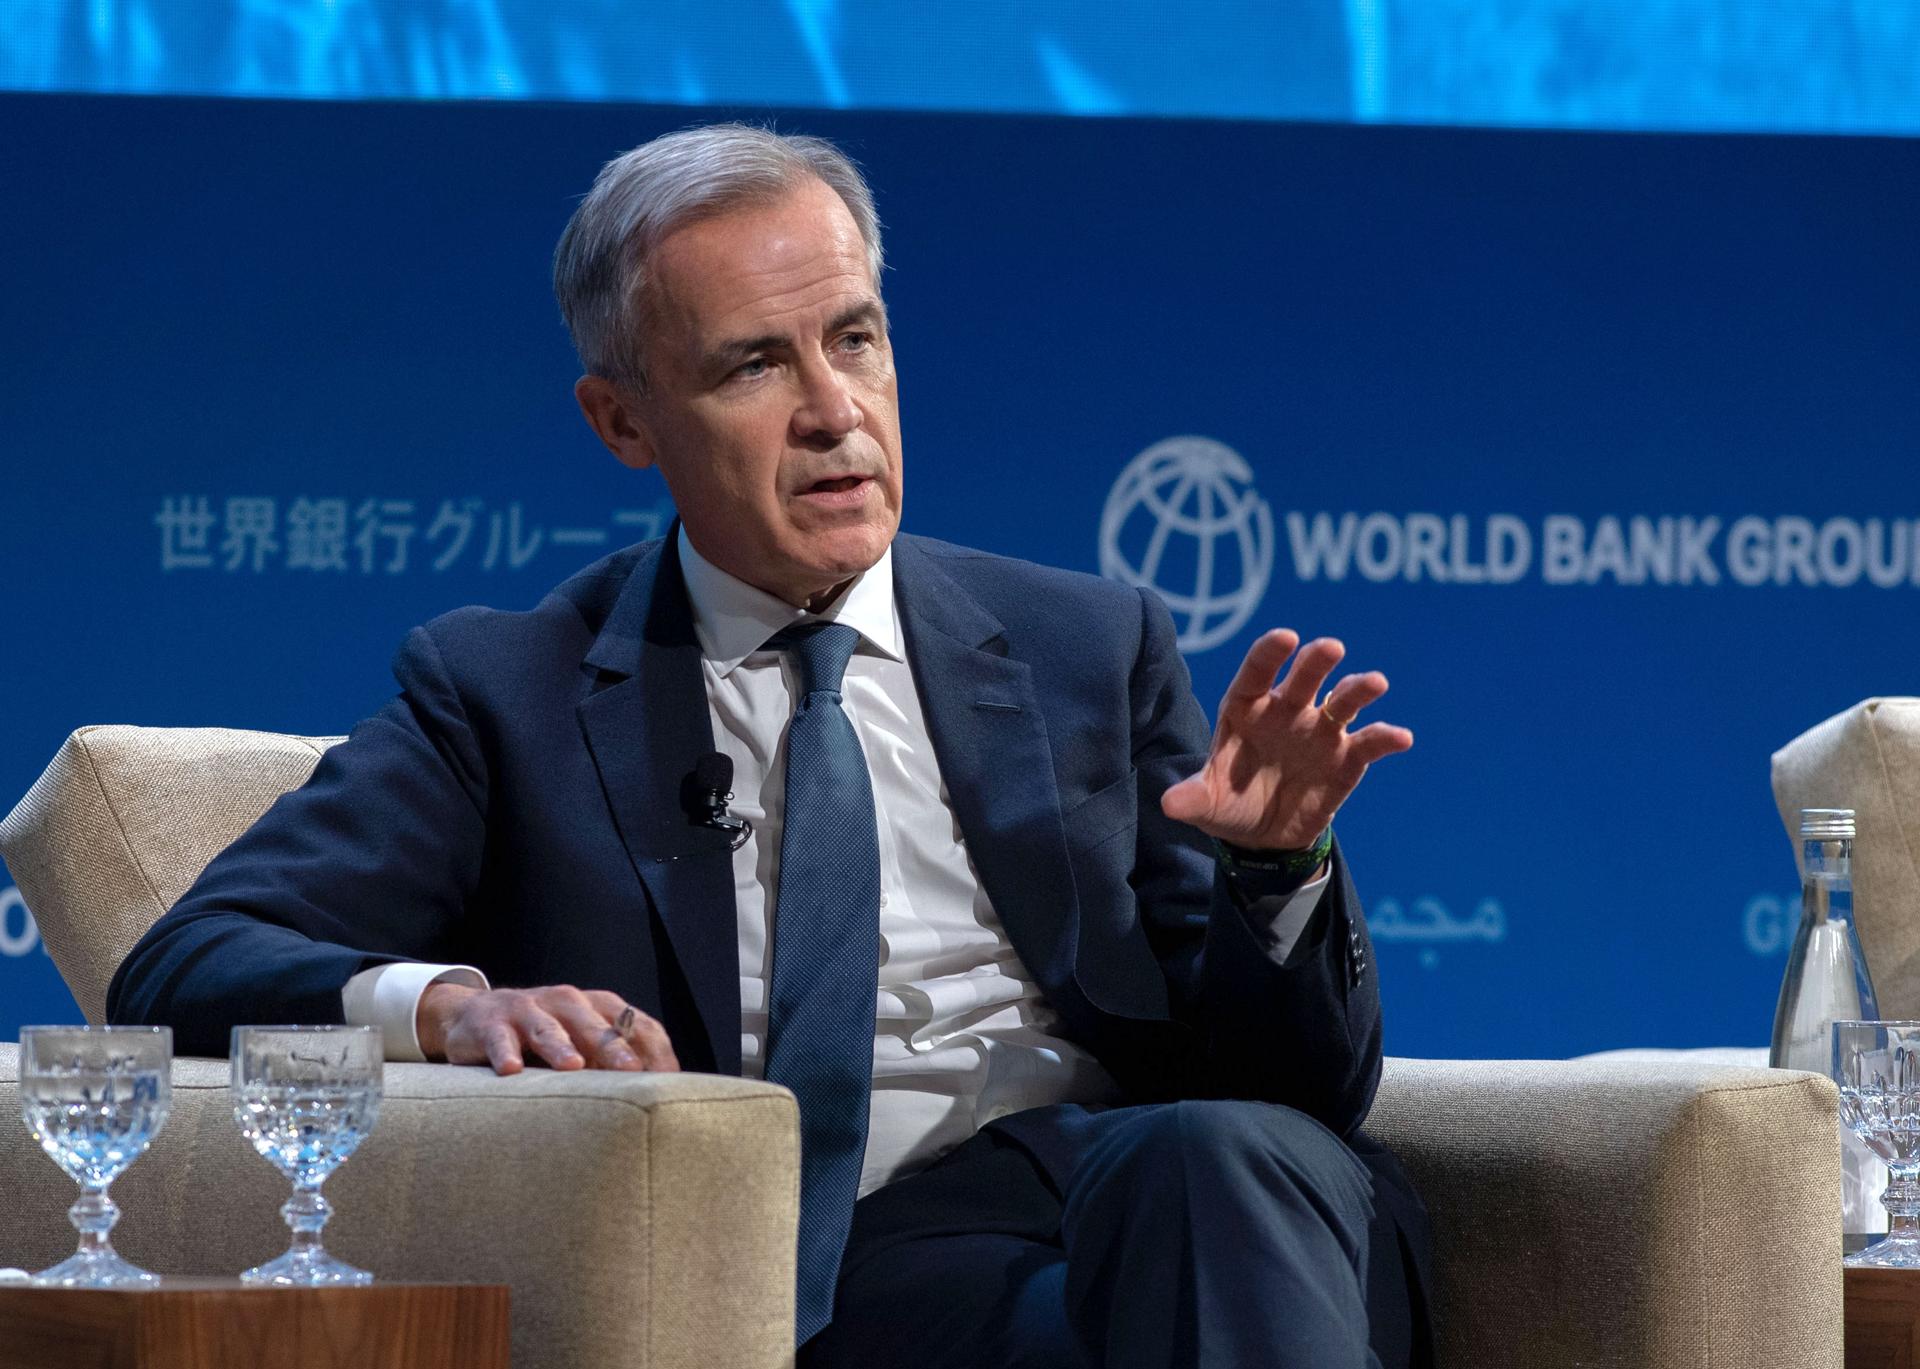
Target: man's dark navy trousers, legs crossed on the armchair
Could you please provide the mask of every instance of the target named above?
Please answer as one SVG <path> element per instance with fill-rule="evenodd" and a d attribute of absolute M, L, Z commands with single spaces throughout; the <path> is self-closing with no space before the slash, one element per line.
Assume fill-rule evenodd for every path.
<path fill-rule="evenodd" d="M 801 1369 L 1405 1369 L 1394 1223 L 1290 1108 L 1037 1108 L 854 1208 Z"/>

